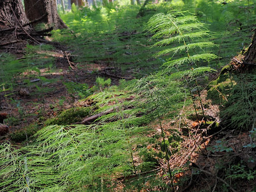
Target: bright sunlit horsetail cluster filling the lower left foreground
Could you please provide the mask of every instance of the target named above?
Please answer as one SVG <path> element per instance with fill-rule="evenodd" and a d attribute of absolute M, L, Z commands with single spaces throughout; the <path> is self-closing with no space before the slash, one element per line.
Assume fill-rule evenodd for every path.
<path fill-rule="evenodd" d="M 119 92 L 120 98 L 116 93 L 100 92 L 94 97 L 95 102 L 104 95 L 116 100 L 114 106 L 100 108 L 104 111 L 116 107 L 111 115 L 99 118 L 101 124 L 50 125 L 36 133 L 34 145 L 18 150 L 8 144 L 1 145 L 0 174 L 4 180 L 0 180 L 0 188 L 5 191 L 27 188 L 29 191 L 90 191 L 100 186 L 107 189 L 112 174 L 140 172 L 132 163 L 135 151 L 131 148 L 135 143 L 147 143 L 143 136 L 146 129 L 138 127 L 145 122 L 145 116 L 138 117 L 138 109 L 129 109 L 131 102 L 118 103 L 124 92 Z M 58 120 L 61 117 L 58 116 Z M 65 116 L 65 120 L 73 118 Z"/>

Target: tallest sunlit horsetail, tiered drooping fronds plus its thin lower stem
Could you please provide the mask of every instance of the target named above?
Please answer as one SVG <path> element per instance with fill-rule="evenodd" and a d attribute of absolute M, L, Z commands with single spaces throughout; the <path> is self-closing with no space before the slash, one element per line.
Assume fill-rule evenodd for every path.
<path fill-rule="evenodd" d="M 154 33 L 152 36 L 153 39 L 162 39 L 153 46 L 161 47 L 163 45 L 177 44 L 175 47 L 157 52 L 154 56 L 172 54 L 172 57 L 174 57 L 176 54 L 180 54 L 179 58 L 169 58 L 168 61 L 163 64 L 163 70 L 159 73 L 169 74 L 177 79 L 182 78 L 186 81 L 188 86 L 189 81 L 193 81 L 196 76 L 204 72 L 212 71 L 212 68 L 198 67 L 196 63 L 199 61 L 214 60 L 218 57 L 215 54 L 204 51 L 206 48 L 216 46 L 212 42 L 191 42 L 191 40 L 196 38 L 209 36 L 209 31 L 204 27 L 205 24 L 198 22 L 195 16 L 185 15 L 185 13 L 186 12 L 173 11 L 167 14 L 156 14 L 150 18 L 147 26 L 145 26 L 145 30 L 149 33 Z M 198 51 L 203 52 L 197 53 Z M 184 66 L 185 64 L 187 64 L 187 66 Z M 180 71 L 180 69 L 182 71 Z M 198 90 L 196 78 L 195 84 Z M 204 108 L 199 91 L 198 96 L 204 115 Z M 193 99 L 192 94 L 191 97 Z"/>

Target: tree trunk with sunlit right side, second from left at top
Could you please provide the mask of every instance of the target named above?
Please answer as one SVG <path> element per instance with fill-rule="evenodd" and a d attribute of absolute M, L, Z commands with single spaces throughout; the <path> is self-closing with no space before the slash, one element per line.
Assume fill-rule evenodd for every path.
<path fill-rule="evenodd" d="M 55 0 L 24 0 L 24 4 L 25 12 L 29 20 L 35 20 L 42 17 L 42 15 L 47 15 L 45 19 L 36 22 L 33 26 L 44 22 L 48 27 L 52 26 L 54 29 L 67 28 L 66 24 L 58 15 Z"/>

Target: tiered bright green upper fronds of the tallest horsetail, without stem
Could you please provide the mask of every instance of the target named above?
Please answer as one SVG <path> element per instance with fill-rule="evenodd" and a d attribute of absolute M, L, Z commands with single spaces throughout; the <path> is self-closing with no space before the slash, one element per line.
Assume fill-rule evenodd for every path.
<path fill-rule="evenodd" d="M 180 65 L 188 63 L 188 66 L 191 63 L 196 61 L 210 61 L 218 58 L 215 54 L 211 53 L 196 53 L 196 50 L 204 52 L 204 48 L 214 47 L 212 42 L 195 42 L 191 43 L 191 40 L 194 38 L 200 38 L 202 36 L 209 36 L 208 31 L 205 30 L 205 24 L 198 22 L 195 16 L 185 15 L 186 12 L 173 11 L 172 13 L 159 13 L 154 15 L 145 26 L 148 33 L 153 33 L 152 38 L 164 38 L 156 42 L 154 46 L 169 45 L 173 42 L 179 42 L 183 45 L 173 47 L 170 49 L 164 49 L 161 52 L 156 53 L 154 56 L 161 56 L 163 54 L 168 54 L 173 52 L 173 56 L 178 52 L 183 51 L 186 53 L 186 57 L 177 58 L 172 60 L 169 59 L 166 63 L 163 64 L 164 73 L 168 74 L 170 68 L 176 67 L 179 68 Z M 189 42 L 189 43 L 188 43 Z M 191 54 L 192 51 L 195 54 Z M 192 67 L 191 67 L 192 68 Z"/>

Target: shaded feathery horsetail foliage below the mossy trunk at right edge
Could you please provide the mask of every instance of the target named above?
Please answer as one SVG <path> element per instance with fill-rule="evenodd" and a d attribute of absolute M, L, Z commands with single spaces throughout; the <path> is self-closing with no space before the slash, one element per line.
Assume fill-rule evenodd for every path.
<path fill-rule="evenodd" d="M 255 74 L 239 74 L 232 76 L 232 87 L 228 90 L 225 108 L 221 116 L 230 127 L 236 129 L 252 129 L 255 122 Z M 226 91 L 227 92 L 227 91 Z"/>

